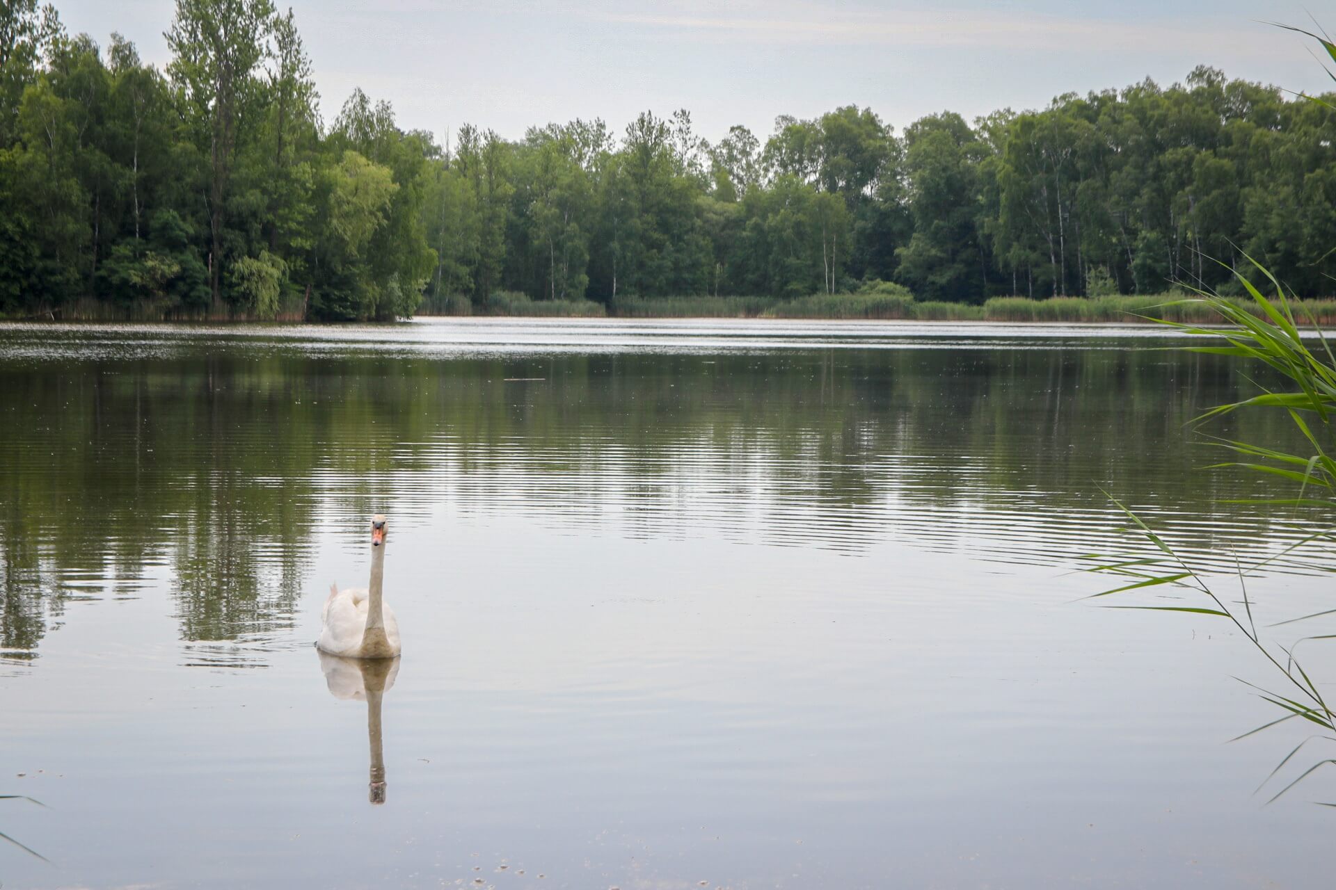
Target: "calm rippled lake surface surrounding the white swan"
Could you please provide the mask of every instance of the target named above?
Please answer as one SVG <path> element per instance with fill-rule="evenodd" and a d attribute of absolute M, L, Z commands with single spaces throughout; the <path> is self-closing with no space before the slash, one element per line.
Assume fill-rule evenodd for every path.
<path fill-rule="evenodd" d="M 1221 576 L 1303 534 L 1161 334 L 0 326 L 0 883 L 1321 886 L 1246 640 L 1078 602 L 1105 492 Z M 313 648 L 374 512 L 393 677 Z"/>

